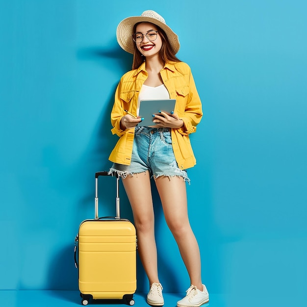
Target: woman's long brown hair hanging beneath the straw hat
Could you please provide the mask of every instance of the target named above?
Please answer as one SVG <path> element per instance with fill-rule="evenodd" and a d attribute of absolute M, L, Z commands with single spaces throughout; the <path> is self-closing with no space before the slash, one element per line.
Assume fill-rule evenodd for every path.
<path fill-rule="evenodd" d="M 133 33 L 135 33 L 136 26 L 138 24 L 141 24 L 141 23 L 137 23 L 133 26 Z M 172 50 L 165 32 L 159 26 L 156 26 L 156 27 L 158 29 L 159 35 L 162 40 L 162 47 L 161 47 L 161 50 L 159 51 L 161 60 L 164 63 L 170 62 L 170 61 L 180 62 L 179 58 L 175 55 L 174 51 Z M 145 61 L 144 56 L 142 55 L 140 51 L 138 51 L 138 49 L 136 48 L 136 44 L 134 43 L 132 69 L 137 69 L 144 61 Z"/>

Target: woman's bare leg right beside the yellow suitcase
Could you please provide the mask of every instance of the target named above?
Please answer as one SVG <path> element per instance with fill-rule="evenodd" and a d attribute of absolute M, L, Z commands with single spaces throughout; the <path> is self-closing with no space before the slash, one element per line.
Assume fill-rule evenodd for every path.
<path fill-rule="evenodd" d="M 123 179 L 137 232 L 138 253 L 150 285 L 159 283 L 154 238 L 154 213 L 149 172 Z"/>

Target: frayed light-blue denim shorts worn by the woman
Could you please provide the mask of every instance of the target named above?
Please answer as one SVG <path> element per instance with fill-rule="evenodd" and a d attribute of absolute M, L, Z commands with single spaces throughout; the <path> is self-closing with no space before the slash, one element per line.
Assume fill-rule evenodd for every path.
<path fill-rule="evenodd" d="M 178 167 L 168 128 L 135 127 L 130 165 L 114 163 L 109 173 L 118 173 L 126 178 L 146 171 L 154 179 L 179 176 L 190 182 L 186 170 Z"/>

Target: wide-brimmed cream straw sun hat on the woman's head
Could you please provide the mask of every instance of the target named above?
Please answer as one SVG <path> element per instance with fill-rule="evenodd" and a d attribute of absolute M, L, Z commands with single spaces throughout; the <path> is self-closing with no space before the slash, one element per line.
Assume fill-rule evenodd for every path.
<path fill-rule="evenodd" d="M 132 40 L 132 30 L 135 24 L 141 22 L 148 22 L 159 26 L 166 33 L 168 41 L 175 54 L 179 51 L 180 44 L 178 35 L 166 25 L 162 16 L 151 10 L 143 12 L 141 16 L 128 17 L 122 20 L 117 26 L 117 42 L 125 51 L 133 54 L 134 42 Z"/>

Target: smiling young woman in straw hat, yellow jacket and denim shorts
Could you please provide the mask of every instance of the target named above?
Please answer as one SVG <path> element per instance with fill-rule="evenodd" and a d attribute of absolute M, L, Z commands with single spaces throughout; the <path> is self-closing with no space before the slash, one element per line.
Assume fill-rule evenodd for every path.
<path fill-rule="evenodd" d="M 133 53 L 133 64 L 115 93 L 112 133 L 120 139 L 109 157 L 114 162 L 110 173 L 123 178 L 132 208 L 138 252 L 150 282 L 147 302 L 164 304 L 154 237 L 153 177 L 167 225 L 190 277 L 187 295 L 177 306 L 201 306 L 209 301 L 209 295 L 201 280 L 200 252 L 188 219 L 185 186 L 189 182 L 186 169 L 196 164 L 189 134 L 196 131 L 202 118 L 201 101 L 189 66 L 175 55 L 178 36 L 159 14 L 149 10 L 124 19 L 117 27 L 117 41 Z M 143 120 L 137 117 L 143 99 L 176 99 L 175 110 L 157 110 L 152 126 L 138 127 Z"/>

